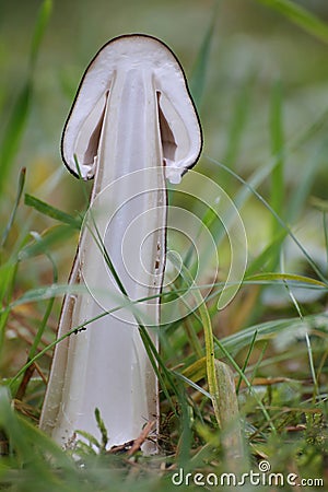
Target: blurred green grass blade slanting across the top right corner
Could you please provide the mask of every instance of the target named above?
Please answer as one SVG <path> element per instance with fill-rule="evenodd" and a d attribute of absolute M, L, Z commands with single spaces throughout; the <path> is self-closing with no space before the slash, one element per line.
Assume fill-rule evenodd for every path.
<path fill-rule="evenodd" d="M 290 0 L 257 0 L 283 14 L 307 33 L 328 43 L 328 25 L 308 10 Z"/>

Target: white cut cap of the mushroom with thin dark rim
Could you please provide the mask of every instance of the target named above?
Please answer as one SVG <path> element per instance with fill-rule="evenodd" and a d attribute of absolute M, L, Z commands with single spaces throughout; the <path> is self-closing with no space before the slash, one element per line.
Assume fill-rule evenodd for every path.
<path fill-rule="evenodd" d="M 108 94 L 118 73 L 131 69 L 141 70 L 152 81 L 150 96 L 157 98 L 166 177 L 178 183 L 199 159 L 201 127 L 177 58 L 164 43 L 148 35 L 116 37 L 90 62 L 62 132 L 62 160 L 77 177 L 94 177 Z"/>

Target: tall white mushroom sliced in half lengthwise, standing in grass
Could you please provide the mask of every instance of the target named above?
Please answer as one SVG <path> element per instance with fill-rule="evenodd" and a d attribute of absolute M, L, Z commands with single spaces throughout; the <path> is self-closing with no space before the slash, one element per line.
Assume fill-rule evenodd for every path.
<path fill-rule="evenodd" d="M 94 178 L 70 277 L 89 292 L 66 296 L 58 338 L 85 327 L 56 345 L 40 417 L 40 427 L 63 447 L 75 444 L 78 430 L 97 435 L 95 408 L 108 430 L 108 446 L 136 440 L 147 422 L 159 422 L 156 376 L 138 319 L 157 345 L 165 177 L 178 184 L 201 144 L 183 69 L 166 45 L 133 34 L 97 52 L 61 141 L 69 171 Z M 136 304 L 138 316 L 129 307 L 106 315 L 119 300 L 140 298 L 145 301 Z"/>

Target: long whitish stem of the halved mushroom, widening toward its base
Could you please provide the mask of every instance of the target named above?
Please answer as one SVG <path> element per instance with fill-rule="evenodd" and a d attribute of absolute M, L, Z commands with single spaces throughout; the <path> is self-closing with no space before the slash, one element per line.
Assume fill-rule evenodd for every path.
<path fill-rule="evenodd" d="M 153 296 L 160 293 L 161 278 L 164 270 L 165 245 L 165 186 L 163 156 L 161 152 L 160 136 L 156 131 L 152 138 L 145 141 L 140 136 L 147 134 L 149 128 L 156 129 L 156 101 L 148 101 L 148 80 L 137 78 L 133 72 L 128 72 L 124 80 L 117 81 L 113 93 L 108 97 L 106 114 L 101 136 L 97 172 L 95 176 L 92 204 L 101 197 L 97 211 L 117 210 L 113 216 L 113 223 L 104 238 L 107 255 L 115 266 L 117 276 L 124 285 L 130 300 Z M 109 110 L 112 98 L 115 98 L 115 90 L 122 85 L 121 106 L 118 107 L 118 120 Z M 142 98 L 143 101 L 140 101 Z M 136 108 L 139 110 L 136 112 Z M 122 113 L 122 115 L 120 115 Z M 116 133 L 116 134 L 115 134 Z M 108 165 L 107 163 L 110 163 Z M 140 173 L 131 178 L 120 179 L 136 171 L 159 166 L 159 172 Z M 136 179 L 148 180 L 142 186 L 136 184 Z M 133 183 L 134 181 L 134 183 Z M 106 186 L 115 183 L 110 191 L 99 196 Z M 139 185 L 141 185 L 139 183 Z M 133 187 L 130 189 L 130 187 Z M 136 196 L 137 190 L 137 196 Z M 149 210 L 154 210 L 150 214 Z M 102 212 L 101 212 L 102 213 Z M 142 215 L 144 218 L 142 220 Z M 150 220 L 152 215 L 152 220 Z M 121 246 L 125 242 L 127 229 L 139 220 L 141 227 L 133 227 L 133 244 L 128 245 L 129 263 L 138 266 L 133 272 L 127 271 L 124 265 Z M 104 216 L 101 215 L 99 222 Z M 101 224 L 97 224 L 97 229 Z M 109 233 L 108 233 L 109 232 Z M 140 248 L 147 241 L 142 257 L 148 265 L 140 261 Z M 104 288 L 117 291 L 115 279 L 104 271 L 102 255 L 97 255 L 93 238 L 85 230 L 81 239 L 83 277 L 87 278 L 89 289 L 96 291 Z M 79 268 L 79 267 L 78 267 Z M 77 267 L 74 268 L 74 270 Z M 81 270 L 81 267 L 80 267 Z M 133 273 L 133 276 L 131 276 Z M 148 278 L 148 277 L 149 278 Z M 156 278 L 154 285 L 153 278 Z M 73 276 L 72 281 L 77 281 Z M 109 294 L 110 295 L 110 294 Z M 72 306 L 74 297 L 68 297 L 63 307 L 63 316 L 60 323 L 59 336 L 74 326 L 80 326 L 89 319 L 96 317 L 104 309 L 98 305 L 92 294 L 83 295 Z M 115 307 L 117 298 L 112 306 L 110 297 L 104 300 L 106 308 Z M 155 308 L 154 321 L 159 323 L 159 300 L 151 302 Z M 149 311 L 149 309 L 148 309 Z M 145 349 L 142 344 L 138 326 L 133 320 L 127 320 L 127 313 L 116 313 L 92 323 L 86 330 L 71 336 L 66 341 L 66 350 L 58 345 L 54 359 L 54 368 L 49 380 L 49 389 L 42 417 L 42 427 L 48 430 L 49 424 L 56 425 L 51 434 L 56 441 L 67 444 L 72 441 L 75 430 L 83 430 L 93 435 L 97 434 L 94 419 L 94 408 L 98 408 L 108 425 L 109 443 L 119 445 L 138 437 L 142 426 L 157 415 L 157 395 L 154 371 L 151 367 Z M 124 318 L 124 319 L 120 319 Z M 152 333 L 152 329 L 150 332 Z M 152 333 L 156 343 L 156 336 Z M 61 352 L 65 350 L 66 361 L 62 364 Z M 60 367 L 60 368 L 59 368 Z M 65 370 L 66 368 L 66 370 Z M 49 409 L 54 412 L 52 398 L 59 402 L 54 386 L 58 385 L 58 370 L 62 371 L 60 386 L 62 386 L 61 401 L 56 413 L 56 419 L 49 415 Z M 57 393 L 57 391 L 56 391 Z M 57 407 L 57 406 L 56 406 Z M 50 419 L 49 419 L 50 417 Z"/>

